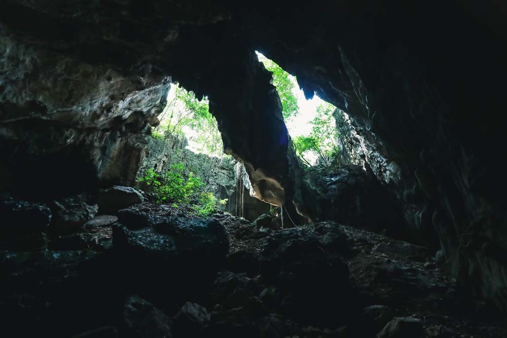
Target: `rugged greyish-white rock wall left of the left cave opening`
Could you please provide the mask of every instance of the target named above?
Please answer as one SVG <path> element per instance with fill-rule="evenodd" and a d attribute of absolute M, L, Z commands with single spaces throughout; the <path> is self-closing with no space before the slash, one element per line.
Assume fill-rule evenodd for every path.
<path fill-rule="evenodd" d="M 0 46 L 2 191 L 37 199 L 131 184 L 168 86 L 11 36 Z"/>

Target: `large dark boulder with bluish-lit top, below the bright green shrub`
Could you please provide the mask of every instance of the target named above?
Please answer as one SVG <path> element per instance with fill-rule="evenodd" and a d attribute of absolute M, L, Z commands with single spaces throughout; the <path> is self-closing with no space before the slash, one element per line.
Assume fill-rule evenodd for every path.
<path fill-rule="evenodd" d="M 126 284 L 140 294 L 181 302 L 225 266 L 229 241 L 215 219 L 166 217 L 137 230 L 117 223 L 113 247 Z"/>

